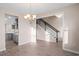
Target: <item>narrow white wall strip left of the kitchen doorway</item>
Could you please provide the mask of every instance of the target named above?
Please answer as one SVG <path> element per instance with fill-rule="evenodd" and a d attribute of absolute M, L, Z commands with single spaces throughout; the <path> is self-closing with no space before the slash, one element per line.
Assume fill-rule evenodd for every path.
<path fill-rule="evenodd" d="M 5 22 L 4 14 L 0 12 L 0 51 L 5 50 Z"/>

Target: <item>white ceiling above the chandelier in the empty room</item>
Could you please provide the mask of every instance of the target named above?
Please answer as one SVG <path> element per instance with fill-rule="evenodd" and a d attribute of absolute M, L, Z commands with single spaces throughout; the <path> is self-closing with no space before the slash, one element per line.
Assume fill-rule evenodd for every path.
<path fill-rule="evenodd" d="M 72 3 L 0 3 L 0 9 L 12 10 L 19 14 L 44 14 Z"/>

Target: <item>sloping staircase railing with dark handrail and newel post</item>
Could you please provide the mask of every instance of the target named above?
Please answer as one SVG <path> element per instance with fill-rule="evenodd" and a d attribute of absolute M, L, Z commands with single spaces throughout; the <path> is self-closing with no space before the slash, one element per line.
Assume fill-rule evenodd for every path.
<path fill-rule="evenodd" d="M 49 35 L 50 39 L 54 38 L 58 43 L 58 30 L 44 21 L 42 18 L 37 19 L 36 24 L 40 25 Z"/>

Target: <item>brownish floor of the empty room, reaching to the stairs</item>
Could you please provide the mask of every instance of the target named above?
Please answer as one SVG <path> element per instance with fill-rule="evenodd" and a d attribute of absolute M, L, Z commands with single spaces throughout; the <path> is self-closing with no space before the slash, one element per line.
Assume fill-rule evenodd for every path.
<path fill-rule="evenodd" d="M 62 49 L 62 43 L 46 42 L 38 40 L 36 43 L 27 43 L 15 46 L 0 52 L 0 56 L 77 56 Z"/>

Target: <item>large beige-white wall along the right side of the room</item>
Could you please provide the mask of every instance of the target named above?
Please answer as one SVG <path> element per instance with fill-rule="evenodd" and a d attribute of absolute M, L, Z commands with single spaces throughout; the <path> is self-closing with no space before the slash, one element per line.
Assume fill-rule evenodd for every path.
<path fill-rule="evenodd" d="M 64 9 L 64 34 L 64 50 L 79 54 L 79 4 Z"/>

